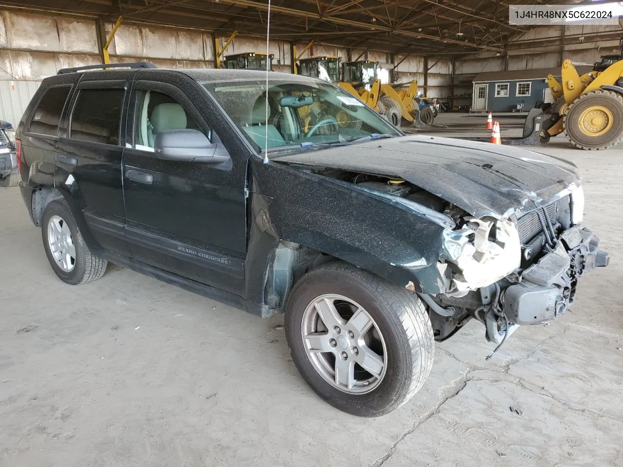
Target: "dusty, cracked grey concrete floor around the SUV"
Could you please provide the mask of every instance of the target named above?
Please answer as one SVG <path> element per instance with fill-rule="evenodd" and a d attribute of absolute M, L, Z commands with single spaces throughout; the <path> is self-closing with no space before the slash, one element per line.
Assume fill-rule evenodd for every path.
<path fill-rule="evenodd" d="M 421 392 L 376 419 L 305 385 L 282 316 L 115 266 L 88 285 L 60 282 L 19 190 L 2 189 L 0 466 L 623 465 L 623 149 L 579 151 L 559 136 L 540 150 L 581 167 L 585 224 L 611 266 L 492 361 L 472 321 L 437 344 Z"/>

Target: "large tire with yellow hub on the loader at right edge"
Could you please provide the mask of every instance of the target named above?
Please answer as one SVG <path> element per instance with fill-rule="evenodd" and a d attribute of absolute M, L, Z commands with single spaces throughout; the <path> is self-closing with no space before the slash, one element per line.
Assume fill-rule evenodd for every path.
<path fill-rule="evenodd" d="M 602 89 L 580 96 L 564 115 L 563 128 L 576 148 L 599 151 L 616 146 L 623 140 L 623 97 Z"/>

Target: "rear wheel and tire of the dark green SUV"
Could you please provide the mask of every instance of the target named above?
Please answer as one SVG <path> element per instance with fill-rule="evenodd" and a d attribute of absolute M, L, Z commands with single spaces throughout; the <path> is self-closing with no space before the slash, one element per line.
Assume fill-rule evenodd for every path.
<path fill-rule="evenodd" d="M 41 237 L 47 260 L 63 282 L 85 284 L 104 275 L 108 263 L 90 252 L 64 199 L 45 207 Z"/>

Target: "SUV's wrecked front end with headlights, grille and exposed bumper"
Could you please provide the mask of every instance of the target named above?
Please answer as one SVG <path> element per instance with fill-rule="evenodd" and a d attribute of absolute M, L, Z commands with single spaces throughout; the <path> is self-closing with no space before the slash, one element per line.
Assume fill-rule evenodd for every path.
<path fill-rule="evenodd" d="M 578 225 L 583 204 L 581 187 L 571 187 L 528 212 L 505 219 L 465 215 L 457 229 L 447 230 L 446 257 L 438 265 L 447 291 L 420 294 L 435 339 L 447 339 L 474 318 L 485 325 L 488 341 L 499 344 L 518 325 L 563 314 L 579 276 L 609 262 L 599 239 Z"/>

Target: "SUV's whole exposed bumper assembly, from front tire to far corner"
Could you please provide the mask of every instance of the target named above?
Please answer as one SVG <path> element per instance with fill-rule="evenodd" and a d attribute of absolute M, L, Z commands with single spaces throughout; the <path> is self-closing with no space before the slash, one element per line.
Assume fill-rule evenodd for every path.
<path fill-rule="evenodd" d="M 526 268 L 507 271 L 473 290 L 420 296 L 431 311 L 438 341 L 475 318 L 487 328 L 487 340 L 500 344 L 520 325 L 547 323 L 563 314 L 575 298 L 579 277 L 606 267 L 609 259 L 596 235 L 575 226 L 561 232 L 553 246 L 545 245 L 540 258 Z"/>

